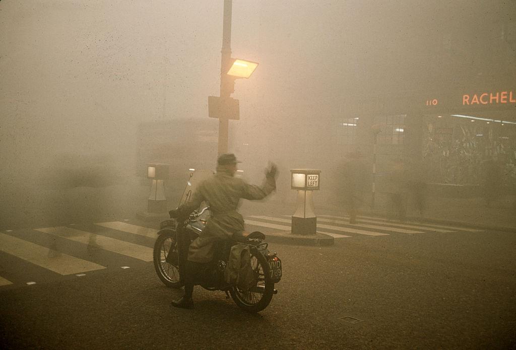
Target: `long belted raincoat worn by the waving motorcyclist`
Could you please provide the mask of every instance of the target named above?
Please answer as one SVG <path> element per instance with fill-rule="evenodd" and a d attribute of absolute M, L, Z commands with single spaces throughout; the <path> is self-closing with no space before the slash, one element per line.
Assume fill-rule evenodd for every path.
<path fill-rule="evenodd" d="M 212 214 L 199 237 L 190 244 L 188 260 L 212 261 L 217 241 L 244 231 L 244 218 L 237 212 L 240 198 L 262 199 L 275 189 L 276 181 L 273 176 L 267 176 L 263 186 L 256 186 L 249 185 L 243 179 L 234 177 L 222 169 L 201 182 L 193 194 L 192 201 L 179 208 L 180 213 L 185 215 L 206 201 Z"/>

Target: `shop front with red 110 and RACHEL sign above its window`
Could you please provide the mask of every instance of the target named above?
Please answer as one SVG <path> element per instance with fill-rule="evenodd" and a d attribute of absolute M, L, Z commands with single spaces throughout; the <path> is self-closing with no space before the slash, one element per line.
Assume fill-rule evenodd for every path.
<path fill-rule="evenodd" d="M 422 107 L 422 165 L 429 184 L 513 193 L 516 90 L 434 96 Z M 478 191 L 475 191 L 477 189 Z"/>

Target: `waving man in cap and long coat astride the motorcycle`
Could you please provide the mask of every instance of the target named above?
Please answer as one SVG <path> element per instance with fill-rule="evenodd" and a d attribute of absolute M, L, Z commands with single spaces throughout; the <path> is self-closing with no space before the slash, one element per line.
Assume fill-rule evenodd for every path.
<path fill-rule="evenodd" d="M 217 242 L 229 239 L 241 239 L 244 232 L 244 218 L 237 212 L 240 198 L 249 200 L 263 199 L 276 189 L 277 167 L 272 164 L 266 171 L 266 180 L 262 186 L 249 185 L 241 178 L 235 177 L 237 170 L 234 154 L 222 154 L 217 159 L 217 172 L 201 182 L 192 201 L 170 211 L 172 218 L 186 220 L 202 202 L 208 202 L 211 211 L 203 231 L 189 246 L 182 280 L 185 295 L 173 301 L 172 305 L 185 309 L 193 308 L 193 286 L 195 277 L 202 264 L 212 261 Z"/>

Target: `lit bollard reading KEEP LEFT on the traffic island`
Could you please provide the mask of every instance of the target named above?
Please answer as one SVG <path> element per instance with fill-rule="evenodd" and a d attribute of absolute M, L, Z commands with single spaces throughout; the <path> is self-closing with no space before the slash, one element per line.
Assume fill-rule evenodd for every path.
<path fill-rule="evenodd" d="M 291 189 L 297 190 L 297 209 L 292 215 L 293 235 L 315 235 L 317 217 L 312 194 L 319 190 L 320 170 L 291 169 Z"/>

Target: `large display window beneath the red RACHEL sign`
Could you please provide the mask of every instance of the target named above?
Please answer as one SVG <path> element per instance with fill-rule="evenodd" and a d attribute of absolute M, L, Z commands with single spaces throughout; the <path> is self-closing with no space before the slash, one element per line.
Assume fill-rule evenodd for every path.
<path fill-rule="evenodd" d="M 430 182 L 516 186 L 516 130 L 511 125 L 427 118 L 426 127 L 423 159 Z"/>

